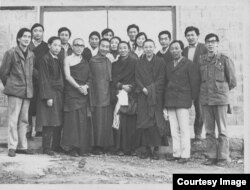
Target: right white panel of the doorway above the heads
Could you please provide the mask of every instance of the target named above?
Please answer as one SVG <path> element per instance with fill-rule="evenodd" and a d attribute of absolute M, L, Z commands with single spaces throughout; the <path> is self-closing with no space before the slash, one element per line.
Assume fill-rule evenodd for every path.
<path fill-rule="evenodd" d="M 128 41 L 127 26 L 136 24 L 141 32 L 145 32 L 148 38 L 156 42 L 157 49 L 160 48 L 158 34 L 162 30 L 173 33 L 172 12 L 170 10 L 109 10 L 109 27 L 123 40 Z"/>

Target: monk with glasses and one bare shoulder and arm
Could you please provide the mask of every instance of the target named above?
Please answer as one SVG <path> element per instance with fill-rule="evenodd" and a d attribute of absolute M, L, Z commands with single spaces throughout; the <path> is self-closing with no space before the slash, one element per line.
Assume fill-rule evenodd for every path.
<path fill-rule="evenodd" d="M 64 119 L 62 145 L 69 147 L 71 156 L 87 156 L 93 145 L 93 127 L 89 114 L 91 74 L 82 57 L 84 41 L 73 41 L 73 54 L 64 60 Z"/>

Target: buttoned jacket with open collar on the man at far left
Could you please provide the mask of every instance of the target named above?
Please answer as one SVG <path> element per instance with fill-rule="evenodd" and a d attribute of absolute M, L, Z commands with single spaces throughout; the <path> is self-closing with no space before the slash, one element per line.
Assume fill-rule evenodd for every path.
<path fill-rule="evenodd" d="M 26 59 L 18 46 L 4 54 L 0 68 L 4 94 L 28 99 L 33 97 L 32 75 L 35 56 L 29 49 L 27 51 Z"/>

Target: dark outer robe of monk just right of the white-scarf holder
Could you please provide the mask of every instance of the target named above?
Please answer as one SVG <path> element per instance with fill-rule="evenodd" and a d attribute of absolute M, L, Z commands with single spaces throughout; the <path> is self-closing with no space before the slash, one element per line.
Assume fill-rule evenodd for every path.
<path fill-rule="evenodd" d="M 163 118 L 163 93 L 165 81 L 165 63 L 154 55 L 149 62 L 144 56 L 136 65 L 136 85 L 138 93 L 137 128 L 158 127 L 163 136 L 166 122 Z M 142 89 L 148 90 L 148 95 Z"/>

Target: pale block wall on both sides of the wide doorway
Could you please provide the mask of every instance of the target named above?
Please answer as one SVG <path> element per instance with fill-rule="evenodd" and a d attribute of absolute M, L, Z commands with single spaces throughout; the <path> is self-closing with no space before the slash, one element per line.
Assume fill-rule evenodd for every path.
<path fill-rule="evenodd" d="M 12 2 L 12 3 L 11 3 Z M 3 1 L 2 6 L 16 6 L 20 5 L 20 1 Z M 25 6 L 33 6 L 31 1 L 24 1 Z M 56 3 L 58 2 L 58 3 Z M 66 3 L 67 2 L 67 3 Z M 48 5 L 69 5 L 69 1 L 55 1 L 51 0 Z M 72 5 L 87 5 L 90 1 L 72 1 Z M 105 1 L 105 4 L 100 1 L 92 1 L 94 5 L 121 5 L 117 1 Z M 107 4 L 106 2 L 109 2 Z M 124 1 L 123 1 L 124 2 Z M 150 1 L 146 3 L 132 3 L 127 1 L 124 5 L 150 5 Z M 152 2 L 152 1 L 151 1 Z M 168 5 L 165 1 L 155 5 Z M 163 3 L 164 2 L 164 3 Z M 19 3 L 19 4 L 18 4 Z M 152 3 L 151 3 L 152 4 Z M 42 5 L 42 4 L 39 4 Z M 47 4 L 46 4 L 47 5 Z M 91 5 L 89 3 L 89 5 Z M 173 4 L 171 4 L 173 5 Z M 2 60 L 3 53 L 13 45 L 15 45 L 15 37 L 17 31 L 21 27 L 31 27 L 33 23 L 39 22 L 39 6 L 35 6 L 34 10 L 0 10 L 0 61 Z M 200 29 L 200 41 L 203 42 L 205 35 L 209 32 L 219 34 L 221 41 L 221 51 L 229 55 L 236 68 L 236 75 L 238 80 L 238 86 L 231 92 L 230 102 L 232 105 L 233 114 L 229 115 L 229 124 L 242 125 L 243 124 L 243 36 L 244 31 L 244 7 L 242 5 L 182 5 L 176 6 L 176 32 L 177 39 L 183 40 L 186 43 L 184 37 L 185 28 L 189 25 L 194 25 Z M 0 90 L 3 87 L 0 84 Z M 0 93 L 0 126 L 6 125 L 7 113 L 6 113 L 7 99 L 2 93 Z M 193 121 L 193 108 L 192 117 L 190 123 Z"/>

